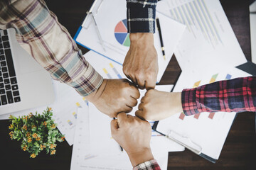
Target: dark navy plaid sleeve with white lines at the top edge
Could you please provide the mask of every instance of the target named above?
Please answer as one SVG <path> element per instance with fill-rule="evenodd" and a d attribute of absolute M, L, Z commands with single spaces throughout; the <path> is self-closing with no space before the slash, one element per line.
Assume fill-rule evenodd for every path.
<path fill-rule="evenodd" d="M 128 33 L 154 33 L 157 0 L 127 0 Z"/>

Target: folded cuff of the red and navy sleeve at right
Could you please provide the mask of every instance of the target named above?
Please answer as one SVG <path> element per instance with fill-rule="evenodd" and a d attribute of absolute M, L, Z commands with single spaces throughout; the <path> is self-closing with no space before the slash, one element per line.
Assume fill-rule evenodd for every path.
<path fill-rule="evenodd" d="M 183 89 L 181 93 L 181 102 L 185 115 L 195 115 L 199 113 L 196 105 L 196 88 Z"/>

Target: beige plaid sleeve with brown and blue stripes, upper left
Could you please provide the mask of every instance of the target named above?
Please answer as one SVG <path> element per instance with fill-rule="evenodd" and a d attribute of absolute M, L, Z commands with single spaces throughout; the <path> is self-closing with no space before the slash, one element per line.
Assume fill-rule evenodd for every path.
<path fill-rule="evenodd" d="M 87 96 L 102 77 L 43 0 L 0 1 L 0 28 L 14 28 L 20 45 L 53 77 Z"/>

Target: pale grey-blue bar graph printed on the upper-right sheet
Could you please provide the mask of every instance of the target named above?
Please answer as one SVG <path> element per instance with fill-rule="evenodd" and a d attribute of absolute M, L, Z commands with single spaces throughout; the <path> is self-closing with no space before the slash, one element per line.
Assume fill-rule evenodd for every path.
<path fill-rule="evenodd" d="M 203 37 L 215 47 L 222 43 L 220 34 L 204 0 L 169 1 L 171 18 L 187 26 L 194 38 Z"/>

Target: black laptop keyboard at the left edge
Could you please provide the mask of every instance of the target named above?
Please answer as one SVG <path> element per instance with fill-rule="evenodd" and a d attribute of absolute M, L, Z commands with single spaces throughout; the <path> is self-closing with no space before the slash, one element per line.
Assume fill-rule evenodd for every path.
<path fill-rule="evenodd" d="M 7 30 L 0 30 L 0 106 L 20 102 Z"/>

